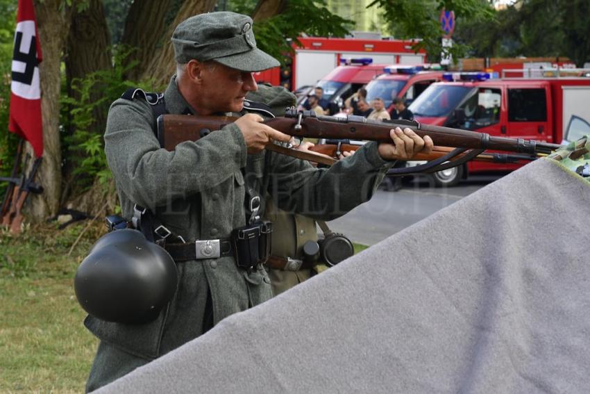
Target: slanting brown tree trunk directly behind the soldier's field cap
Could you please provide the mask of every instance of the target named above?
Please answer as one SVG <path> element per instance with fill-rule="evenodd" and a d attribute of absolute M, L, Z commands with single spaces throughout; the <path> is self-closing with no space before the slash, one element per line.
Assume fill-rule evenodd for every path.
<path fill-rule="evenodd" d="M 170 40 L 174 29 L 187 17 L 210 12 L 216 3 L 216 0 L 185 0 L 174 20 L 160 32 L 158 44 L 155 47 L 146 48 L 149 56 L 146 56 L 145 63 L 141 63 L 144 67 L 138 68 L 140 79 L 153 79 L 155 90 L 165 88 L 176 69 L 174 48 Z M 128 28 L 129 26 L 125 26 L 126 31 Z"/>

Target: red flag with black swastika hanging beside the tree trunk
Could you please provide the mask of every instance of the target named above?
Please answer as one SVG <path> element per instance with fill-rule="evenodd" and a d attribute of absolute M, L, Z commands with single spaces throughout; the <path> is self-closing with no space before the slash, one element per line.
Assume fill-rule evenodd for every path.
<path fill-rule="evenodd" d="M 37 157 L 43 154 L 39 81 L 41 60 L 33 0 L 19 0 L 15 50 L 12 56 L 8 129 L 30 142 Z"/>

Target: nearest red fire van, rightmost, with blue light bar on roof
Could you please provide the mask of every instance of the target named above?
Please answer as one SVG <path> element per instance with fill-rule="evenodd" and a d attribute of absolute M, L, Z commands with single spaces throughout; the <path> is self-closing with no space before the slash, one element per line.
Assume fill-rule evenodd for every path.
<path fill-rule="evenodd" d="M 570 70 L 571 71 L 571 70 Z M 562 143 L 590 133 L 590 78 L 507 78 L 496 73 L 446 73 L 410 105 L 414 119 L 491 136 Z M 519 165 L 471 161 L 437 172 L 437 186 L 452 186 L 472 172 Z"/>

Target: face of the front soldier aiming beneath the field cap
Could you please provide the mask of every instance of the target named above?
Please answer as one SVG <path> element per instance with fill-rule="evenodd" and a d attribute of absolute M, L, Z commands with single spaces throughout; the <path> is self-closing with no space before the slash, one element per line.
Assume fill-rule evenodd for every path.
<path fill-rule="evenodd" d="M 203 101 L 211 112 L 239 112 L 246 94 L 258 89 L 253 73 L 219 63 L 205 69 L 202 87 Z"/>

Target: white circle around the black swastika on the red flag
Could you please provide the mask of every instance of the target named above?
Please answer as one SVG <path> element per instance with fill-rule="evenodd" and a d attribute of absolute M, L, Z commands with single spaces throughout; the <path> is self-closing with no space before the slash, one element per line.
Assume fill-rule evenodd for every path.
<path fill-rule="evenodd" d="M 22 21 L 17 24 L 17 32 L 22 33 L 22 40 L 19 48 L 15 50 L 22 54 L 28 54 L 31 50 L 31 42 L 35 40 L 35 22 L 34 21 Z M 16 34 L 15 34 L 16 43 Z M 35 54 L 36 56 L 36 54 Z M 12 72 L 22 73 L 26 69 L 26 63 L 19 60 L 12 60 Z M 22 83 L 19 81 L 12 81 L 10 83 L 10 90 L 15 95 L 24 99 L 35 100 L 41 98 L 41 88 L 39 81 L 39 67 L 35 66 L 33 71 L 33 79 L 31 85 Z"/>

